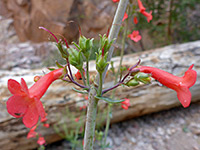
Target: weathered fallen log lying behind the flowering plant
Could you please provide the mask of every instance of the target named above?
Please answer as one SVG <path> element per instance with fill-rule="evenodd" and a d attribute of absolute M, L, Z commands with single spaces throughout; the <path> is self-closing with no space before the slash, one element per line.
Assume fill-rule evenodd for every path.
<path fill-rule="evenodd" d="M 142 65 L 148 65 L 163 69 L 178 76 L 182 76 L 191 64 L 195 64 L 197 71 L 197 82 L 190 88 L 192 101 L 200 100 L 200 41 L 170 45 L 159 49 L 131 54 L 124 57 L 123 65 L 131 66 L 142 60 Z M 119 57 L 113 58 L 114 65 L 119 64 Z M 23 77 L 30 86 L 34 75 L 42 74 L 42 70 L 20 70 L 20 71 L 0 71 L 0 148 L 1 149 L 32 149 L 37 147 L 36 139 L 26 139 L 28 129 L 23 125 L 21 119 L 15 119 L 7 113 L 5 103 L 11 95 L 7 90 L 7 80 L 13 78 L 20 80 Z M 91 74 L 95 74 L 95 63 L 90 64 Z M 113 84 L 111 77 L 107 76 L 104 88 Z M 51 85 L 42 102 L 48 113 L 48 123 L 50 128 L 40 128 L 40 133 L 45 137 L 47 143 L 60 140 L 53 129 L 53 125 L 58 122 L 69 122 L 62 117 L 63 111 L 70 106 L 70 113 L 79 115 L 77 108 L 86 102 L 77 96 L 72 90 L 73 85 L 61 81 L 56 81 Z M 109 95 L 108 93 L 107 95 Z M 113 108 L 112 123 L 141 116 L 148 113 L 166 110 L 180 106 L 176 92 L 164 86 L 159 86 L 157 82 L 149 85 L 140 85 L 134 88 L 119 87 L 116 91 L 117 98 L 129 98 L 131 106 L 128 110 L 122 109 L 119 105 Z M 104 109 L 105 103 L 101 103 L 99 110 Z M 104 110 L 105 112 L 105 110 Z"/>

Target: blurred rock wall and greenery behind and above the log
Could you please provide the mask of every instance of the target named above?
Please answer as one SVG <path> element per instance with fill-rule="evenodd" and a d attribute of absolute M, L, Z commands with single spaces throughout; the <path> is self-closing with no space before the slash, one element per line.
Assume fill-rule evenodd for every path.
<path fill-rule="evenodd" d="M 142 2 L 147 11 L 152 11 L 153 20 L 148 23 L 142 14 L 136 12 L 135 16 L 139 23 L 135 25 L 133 16 L 129 17 L 128 33 L 139 30 L 142 40 L 138 43 L 130 39 L 126 40 L 125 54 L 200 39 L 199 0 L 143 0 Z M 137 1 L 130 1 L 130 3 L 131 7 L 138 10 Z M 39 30 L 39 26 L 49 29 L 58 37 L 60 35 L 66 37 L 71 43 L 77 41 L 78 25 L 80 25 L 84 36 L 98 40 L 99 34 L 105 34 L 111 26 L 117 3 L 113 3 L 112 0 L 101 2 L 98 0 L 1 0 L 0 6 L 0 67 L 11 69 L 17 66 L 24 68 L 49 66 L 53 65 L 51 63 L 54 62 L 53 59 L 58 59 L 55 48 L 48 46 L 49 41 L 55 40 L 48 32 Z M 119 37 L 119 50 L 120 41 Z M 22 42 L 25 43 L 21 45 Z M 12 58 L 11 47 L 27 55 L 29 51 L 32 58 L 26 60 L 23 56 L 16 55 Z M 115 51 L 115 55 L 119 55 L 119 50 Z M 23 57 L 21 60 L 23 64 L 17 57 Z M 5 64 L 5 59 L 15 59 L 16 64 L 11 62 Z"/>

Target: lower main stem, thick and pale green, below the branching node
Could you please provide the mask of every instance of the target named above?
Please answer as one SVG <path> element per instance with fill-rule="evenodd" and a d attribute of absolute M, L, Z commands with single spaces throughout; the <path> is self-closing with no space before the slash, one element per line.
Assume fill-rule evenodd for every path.
<path fill-rule="evenodd" d="M 95 122 L 96 122 L 97 104 L 98 104 L 98 99 L 94 97 L 95 94 L 96 94 L 95 87 L 94 85 L 91 85 L 89 93 L 89 103 L 87 108 L 86 128 L 85 128 L 84 147 L 83 147 L 84 150 L 93 150 Z"/>

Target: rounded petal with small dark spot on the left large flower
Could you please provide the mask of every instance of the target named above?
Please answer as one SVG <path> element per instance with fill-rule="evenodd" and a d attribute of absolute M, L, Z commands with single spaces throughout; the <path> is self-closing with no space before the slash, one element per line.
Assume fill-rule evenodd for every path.
<path fill-rule="evenodd" d="M 26 98 L 18 95 L 11 96 L 7 101 L 8 113 L 16 118 L 24 116 L 28 108 Z"/>

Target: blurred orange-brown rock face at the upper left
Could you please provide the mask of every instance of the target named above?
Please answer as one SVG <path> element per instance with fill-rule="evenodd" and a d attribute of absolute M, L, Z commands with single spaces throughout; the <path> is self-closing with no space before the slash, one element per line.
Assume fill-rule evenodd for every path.
<path fill-rule="evenodd" d="M 10 14 L 22 42 L 48 41 L 49 33 L 39 30 L 39 26 L 48 28 L 58 36 L 65 36 L 69 42 L 78 38 L 78 25 L 83 34 L 96 37 L 107 32 L 115 11 L 112 1 L 107 0 L 98 5 L 92 0 L 4 0 L 1 4 L 5 9 L 0 10 L 0 15 Z M 55 41 L 53 38 L 51 40 Z"/>

